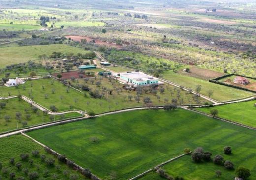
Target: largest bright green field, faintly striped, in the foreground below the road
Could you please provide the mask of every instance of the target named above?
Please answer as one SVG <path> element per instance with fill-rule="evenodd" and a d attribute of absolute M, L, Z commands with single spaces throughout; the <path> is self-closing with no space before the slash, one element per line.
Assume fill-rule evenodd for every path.
<path fill-rule="evenodd" d="M 183 154 L 186 147 L 203 147 L 212 154 L 221 154 L 235 167 L 250 168 L 251 180 L 256 178 L 255 131 L 182 109 L 119 113 L 40 129 L 28 135 L 91 168 L 102 178 L 112 171 L 117 172 L 119 180 L 131 178 Z M 224 155 L 226 145 L 232 147 L 232 156 Z M 234 171 L 223 174 L 223 180 L 231 179 L 233 174 Z M 201 180 L 209 179 L 198 176 L 202 176 Z"/>

